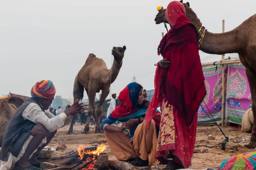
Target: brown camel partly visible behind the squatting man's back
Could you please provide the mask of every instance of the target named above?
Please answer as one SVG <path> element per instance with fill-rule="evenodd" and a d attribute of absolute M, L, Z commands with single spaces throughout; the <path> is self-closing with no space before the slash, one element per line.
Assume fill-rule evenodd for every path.
<path fill-rule="evenodd" d="M 13 114 L 23 104 L 24 100 L 20 97 L 10 97 L 0 102 L 0 147 L 3 142 L 3 136 Z"/>

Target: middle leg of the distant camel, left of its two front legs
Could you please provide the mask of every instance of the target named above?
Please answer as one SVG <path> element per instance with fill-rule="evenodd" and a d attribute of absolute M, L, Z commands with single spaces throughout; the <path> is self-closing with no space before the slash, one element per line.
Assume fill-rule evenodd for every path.
<path fill-rule="evenodd" d="M 95 106 L 96 91 L 94 91 L 94 89 L 90 89 L 90 87 L 89 87 L 89 89 L 86 90 L 86 92 L 89 97 L 89 108 L 88 108 L 88 112 L 87 112 L 87 120 L 86 120 L 86 124 L 84 126 L 83 134 L 89 133 L 90 118 L 91 118 L 92 114 L 95 114 L 95 110 L 96 110 L 96 106 Z"/>

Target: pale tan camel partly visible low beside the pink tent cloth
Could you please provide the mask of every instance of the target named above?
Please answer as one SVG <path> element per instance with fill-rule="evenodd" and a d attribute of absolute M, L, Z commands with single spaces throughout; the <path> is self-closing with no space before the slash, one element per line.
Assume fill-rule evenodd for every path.
<path fill-rule="evenodd" d="M 251 133 L 253 129 L 253 111 L 249 108 L 243 116 L 242 119 L 242 131 L 246 133 Z"/>

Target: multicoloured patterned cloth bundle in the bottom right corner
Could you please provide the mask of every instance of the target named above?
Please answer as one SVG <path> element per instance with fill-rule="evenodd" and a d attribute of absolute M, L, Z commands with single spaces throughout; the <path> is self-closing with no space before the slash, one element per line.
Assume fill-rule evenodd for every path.
<path fill-rule="evenodd" d="M 221 163 L 218 170 L 255 170 L 256 152 L 242 153 Z"/>

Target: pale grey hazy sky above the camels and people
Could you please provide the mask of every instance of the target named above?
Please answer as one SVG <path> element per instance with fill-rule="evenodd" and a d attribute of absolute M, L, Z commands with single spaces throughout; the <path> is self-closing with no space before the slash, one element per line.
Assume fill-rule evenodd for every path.
<path fill-rule="evenodd" d="M 127 50 L 111 92 L 119 94 L 134 74 L 144 88 L 154 88 L 157 45 L 166 33 L 154 17 L 157 6 L 169 2 L 0 0 L 0 96 L 30 96 L 35 82 L 50 79 L 56 95 L 73 98 L 74 79 L 88 54 L 111 68 L 111 49 L 123 45 Z M 190 6 L 209 31 L 220 33 L 223 19 L 230 31 L 255 14 L 256 1 L 193 0 Z"/>

